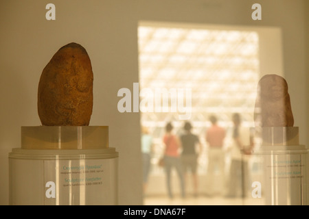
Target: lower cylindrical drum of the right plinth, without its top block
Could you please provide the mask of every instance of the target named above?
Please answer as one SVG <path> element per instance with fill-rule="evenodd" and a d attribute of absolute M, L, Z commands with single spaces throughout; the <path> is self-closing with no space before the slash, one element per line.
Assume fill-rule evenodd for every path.
<path fill-rule="evenodd" d="M 263 157 L 266 205 L 307 205 L 306 162 L 303 146 L 270 146 L 259 151 Z"/>

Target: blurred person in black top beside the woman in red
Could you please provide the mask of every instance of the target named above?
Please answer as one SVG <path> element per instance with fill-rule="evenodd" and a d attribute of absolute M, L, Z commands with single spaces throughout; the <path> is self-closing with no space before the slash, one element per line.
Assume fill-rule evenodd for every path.
<path fill-rule="evenodd" d="M 181 145 L 182 145 L 182 153 L 181 153 L 181 164 L 183 166 L 183 173 L 185 176 L 185 180 L 187 181 L 187 170 L 190 170 L 192 173 L 193 179 L 193 192 L 194 196 L 198 195 L 198 176 L 196 174 L 197 163 L 198 163 L 198 153 L 196 151 L 196 144 L 199 146 L 198 152 L 201 152 L 202 146 L 200 140 L 198 140 L 198 136 L 194 135 L 191 132 L 192 125 L 190 122 L 185 122 L 183 126 L 185 133 L 181 135 Z"/>

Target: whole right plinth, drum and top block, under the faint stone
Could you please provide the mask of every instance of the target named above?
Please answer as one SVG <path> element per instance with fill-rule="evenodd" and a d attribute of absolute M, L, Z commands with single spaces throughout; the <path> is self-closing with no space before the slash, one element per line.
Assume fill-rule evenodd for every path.
<path fill-rule="evenodd" d="M 258 157 L 265 205 L 307 205 L 308 148 L 299 145 L 298 127 L 264 127 Z"/>

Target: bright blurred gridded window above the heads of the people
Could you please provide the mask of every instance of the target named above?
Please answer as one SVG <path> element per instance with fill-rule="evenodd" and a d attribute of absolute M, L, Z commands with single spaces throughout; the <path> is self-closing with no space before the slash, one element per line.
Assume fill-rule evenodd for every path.
<path fill-rule="evenodd" d="M 211 114 L 229 127 L 231 114 L 239 112 L 253 127 L 260 78 L 258 32 L 141 25 L 138 40 L 139 89 L 190 88 L 190 121 L 202 142 Z M 178 112 L 142 112 L 141 124 L 150 127 L 161 144 L 166 122 L 174 121 L 174 131 L 181 132 L 183 120 L 178 116 Z"/>

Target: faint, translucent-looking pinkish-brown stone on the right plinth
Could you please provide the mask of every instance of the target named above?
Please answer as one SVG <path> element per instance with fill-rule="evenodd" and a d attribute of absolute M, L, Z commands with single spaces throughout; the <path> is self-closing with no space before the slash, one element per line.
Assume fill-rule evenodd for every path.
<path fill-rule="evenodd" d="M 288 83 L 279 75 L 264 75 L 258 83 L 255 126 L 293 127 L 293 125 Z"/>

